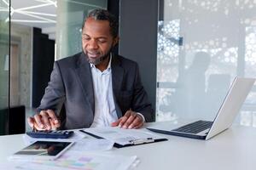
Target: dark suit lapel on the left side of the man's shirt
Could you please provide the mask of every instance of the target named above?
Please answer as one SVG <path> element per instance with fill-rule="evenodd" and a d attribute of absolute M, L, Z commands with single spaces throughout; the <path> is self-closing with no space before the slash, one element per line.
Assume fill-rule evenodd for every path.
<path fill-rule="evenodd" d="M 85 59 L 84 53 L 82 53 L 78 60 L 78 66 L 75 69 L 81 88 L 83 89 L 84 98 L 88 100 L 90 109 L 94 114 L 94 94 L 93 94 L 93 82 L 90 72 L 90 64 Z"/>

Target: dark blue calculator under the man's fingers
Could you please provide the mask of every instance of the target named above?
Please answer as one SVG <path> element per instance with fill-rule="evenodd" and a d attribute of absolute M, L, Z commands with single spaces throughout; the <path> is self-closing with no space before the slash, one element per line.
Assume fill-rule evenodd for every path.
<path fill-rule="evenodd" d="M 73 131 L 49 130 L 26 132 L 32 138 L 39 139 L 68 139 L 73 135 Z"/>

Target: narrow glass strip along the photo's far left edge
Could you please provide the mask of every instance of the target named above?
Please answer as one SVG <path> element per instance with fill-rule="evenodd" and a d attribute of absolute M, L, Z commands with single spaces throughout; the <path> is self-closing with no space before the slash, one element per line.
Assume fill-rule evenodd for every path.
<path fill-rule="evenodd" d="M 0 1 L 0 134 L 6 133 L 9 107 L 9 0 Z"/>

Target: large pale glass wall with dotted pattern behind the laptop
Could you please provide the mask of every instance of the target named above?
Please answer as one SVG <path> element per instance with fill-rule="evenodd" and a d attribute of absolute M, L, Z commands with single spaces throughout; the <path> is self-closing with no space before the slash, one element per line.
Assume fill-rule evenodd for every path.
<path fill-rule="evenodd" d="M 160 1 L 157 120 L 213 120 L 236 76 L 256 77 L 255 1 Z M 237 121 L 256 127 L 255 87 Z"/>

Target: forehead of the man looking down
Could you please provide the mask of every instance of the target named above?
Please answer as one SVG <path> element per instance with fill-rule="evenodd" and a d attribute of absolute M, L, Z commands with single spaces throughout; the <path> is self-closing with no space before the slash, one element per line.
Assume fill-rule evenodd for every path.
<path fill-rule="evenodd" d="M 84 23 L 83 33 L 88 35 L 111 36 L 108 20 L 94 20 L 94 18 L 86 19 Z"/>

